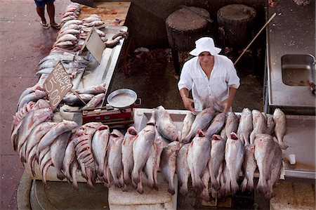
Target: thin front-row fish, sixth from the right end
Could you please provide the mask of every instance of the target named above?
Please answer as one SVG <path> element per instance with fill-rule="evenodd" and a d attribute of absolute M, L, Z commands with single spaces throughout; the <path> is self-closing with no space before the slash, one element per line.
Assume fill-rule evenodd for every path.
<path fill-rule="evenodd" d="M 187 164 L 187 150 L 189 150 L 190 144 L 185 144 L 180 147 L 177 155 L 177 176 L 179 180 L 179 192 L 181 195 L 187 195 L 187 182 L 190 176 L 189 165 Z"/>

